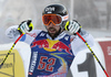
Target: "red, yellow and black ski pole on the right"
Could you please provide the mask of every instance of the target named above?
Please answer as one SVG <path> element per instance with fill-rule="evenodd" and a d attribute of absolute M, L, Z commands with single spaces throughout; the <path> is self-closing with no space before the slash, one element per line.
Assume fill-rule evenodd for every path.
<path fill-rule="evenodd" d="M 103 69 L 104 74 L 107 75 L 107 77 L 109 77 L 107 70 L 103 68 L 102 64 L 100 63 L 99 58 L 95 56 L 95 54 L 93 53 L 92 48 L 90 47 L 90 45 L 87 43 L 87 41 L 80 35 L 80 33 L 78 33 L 78 36 L 85 43 L 85 45 L 88 46 L 88 48 L 90 50 L 90 52 L 92 53 L 92 55 L 95 57 L 95 59 L 98 61 L 98 63 L 100 64 L 101 68 Z"/>

